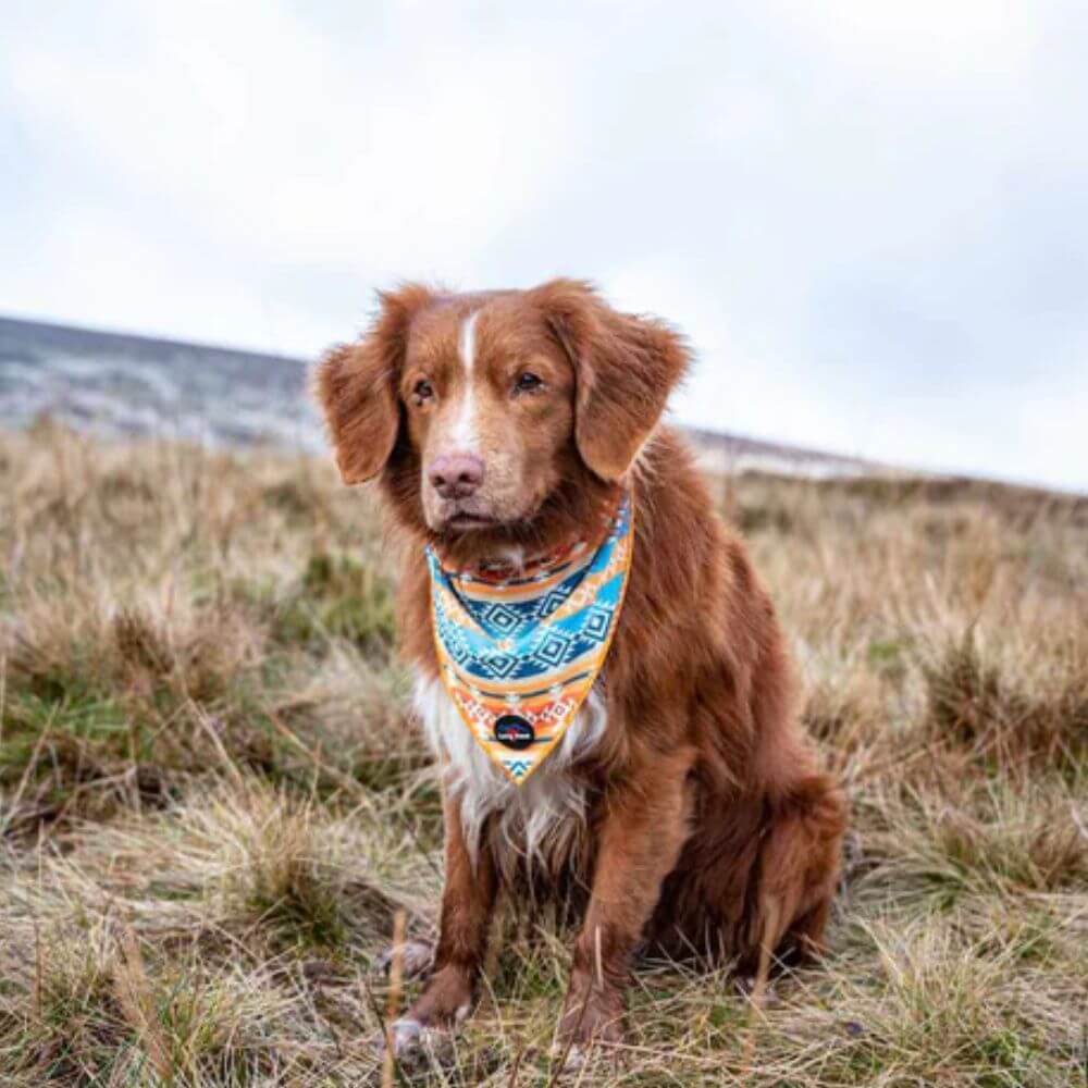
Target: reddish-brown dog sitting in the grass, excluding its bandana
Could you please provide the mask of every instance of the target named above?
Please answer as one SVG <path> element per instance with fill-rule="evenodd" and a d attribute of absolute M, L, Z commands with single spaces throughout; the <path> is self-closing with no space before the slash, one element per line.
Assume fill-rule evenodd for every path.
<path fill-rule="evenodd" d="M 438 937 L 396 1049 L 468 1015 L 502 893 L 580 922 L 559 1022 L 569 1044 L 622 1038 L 636 953 L 764 978 L 772 956 L 820 953 L 844 800 L 800 728 L 770 597 L 662 423 L 689 364 L 683 339 L 574 280 L 477 294 L 409 284 L 380 299 L 369 331 L 323 357 L 314 391 L 343 480 L 376 478 L 411 541 L 401 644 L 442 767 Z M 606 656 L 519 782 L 447 682 L 435 595 L 450 598 L 435 579 L 507 592 L 551 577 L 541 557 L 602 539 L 620 509 L 628 535 L 608 546 L 629 544 L 629 567 Z M 545 576 L 519 581 L 533 570 Z M 515 747 L 536 739 L 524 716 L 495 729 Z"/>

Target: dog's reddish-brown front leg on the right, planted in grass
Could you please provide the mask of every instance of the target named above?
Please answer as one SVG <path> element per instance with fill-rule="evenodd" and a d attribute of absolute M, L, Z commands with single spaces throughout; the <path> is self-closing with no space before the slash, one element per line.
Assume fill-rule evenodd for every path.
<path fill-rule="evenodd" d="M 688 751 L 657 756 L 605 796 L 593 891 L 560 1024 L 567 1041 L 618 1041 L 632 952 L 688 837 Z"/>

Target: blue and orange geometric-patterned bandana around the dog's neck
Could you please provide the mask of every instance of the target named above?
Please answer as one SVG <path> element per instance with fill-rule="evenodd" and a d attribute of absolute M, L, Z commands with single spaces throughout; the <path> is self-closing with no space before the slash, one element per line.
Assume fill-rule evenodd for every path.
<path fill-rule="evenodd" d="M 589 695 L 623 605 L 633 551 L 621 495 L 591 540 L 517 570 L 443 567 L 426 549 L 443 683 L 480 746 L 520 784 L 544 762 Z"/>

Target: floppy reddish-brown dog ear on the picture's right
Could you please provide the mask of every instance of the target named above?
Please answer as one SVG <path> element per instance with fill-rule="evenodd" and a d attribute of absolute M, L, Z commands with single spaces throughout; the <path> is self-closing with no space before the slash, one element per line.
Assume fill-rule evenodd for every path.
<path fill-rule="evenodd" d="M 664 322 L 614 310 L 580 280 L 553 280 L 530 297 L 574 368 L 579 455 L 602 480 L 618 480 L 660 419 L 688 349 Z"/>

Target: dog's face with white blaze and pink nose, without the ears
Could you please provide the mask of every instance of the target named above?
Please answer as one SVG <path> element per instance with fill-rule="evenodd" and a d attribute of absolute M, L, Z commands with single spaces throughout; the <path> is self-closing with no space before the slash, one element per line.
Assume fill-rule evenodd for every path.
<path fill-rule="evenodd" d="M 577 457 L 573 368 L 518 295 L 418 314 L 399 394 L 436 532 L 531 518 Z"/>

